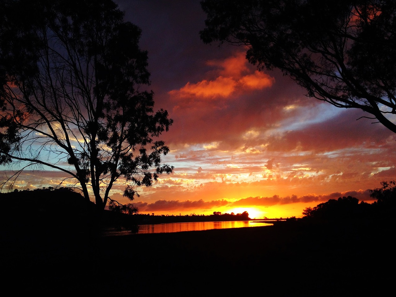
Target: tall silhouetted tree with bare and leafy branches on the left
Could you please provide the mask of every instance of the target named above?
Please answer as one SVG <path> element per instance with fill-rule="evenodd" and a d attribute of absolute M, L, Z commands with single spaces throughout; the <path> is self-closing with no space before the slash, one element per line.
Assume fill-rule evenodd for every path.
<path fill-rule="evenodd" d="M 133 200 L 173 171 L 159 140 L 173 121 L 143 90 L 141 30 L 114 2 L 5 0 L 0 11 L 0 164 L 61 170 L 101 209 L 117 183 Z"/>

